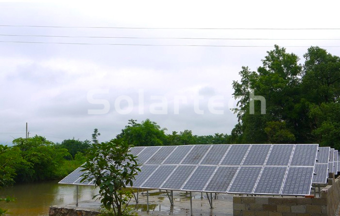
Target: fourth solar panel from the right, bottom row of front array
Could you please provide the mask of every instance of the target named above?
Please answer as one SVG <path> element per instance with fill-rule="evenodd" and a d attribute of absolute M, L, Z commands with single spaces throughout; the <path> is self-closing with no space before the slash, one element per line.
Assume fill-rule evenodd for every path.
<path fill-rule="evenodd" d="M 204 188 L 207 192 L 226 193 L 239 167 L 218 167 Z"/>

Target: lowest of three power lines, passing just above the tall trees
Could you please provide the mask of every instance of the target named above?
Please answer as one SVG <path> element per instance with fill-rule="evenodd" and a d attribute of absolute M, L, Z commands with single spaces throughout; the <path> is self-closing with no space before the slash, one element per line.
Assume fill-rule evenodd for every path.
<path fill-rule="evenodd" d="M 0 41 L 0 43 L 22 43 L 22 44 L 65 44 L 65 45 L 101 45 L 101 46 L 211 46 L 211 47 L 273 47 L 273 46 L 253 46 L 253 45 L 184 45 L 184 44 L 92 44 L 92 43 L 63 43 L 63 42 L 35 42 L 35 41 Z M 283 46 L 301 47 L 310 46 Z M 319 47 L 340 47 L 340 46 L 319 46 Z"/>

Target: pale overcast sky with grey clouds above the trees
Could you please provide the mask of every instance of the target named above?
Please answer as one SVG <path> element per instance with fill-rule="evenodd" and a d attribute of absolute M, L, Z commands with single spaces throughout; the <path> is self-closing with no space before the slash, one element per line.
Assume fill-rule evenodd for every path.
<path fill-rule="evenodd" d="M 166 127 L 167 133 L 189 129 L 196 135 L 229 134 L 237 123 L 236 115 L 229 111 L 235 107 L 232 81 L 239 79 L 241 66 L 256 70 L 272 47 L 214 46 L 340 46 L 337 40 L 91 38 L 340 39 L 340 30 L 193 29 L 340 28 L 339 1 L 42 2 L 0 2 L 0 25 L 12 25 L 0 26 L 3 144 L 25 137 L 26 122 L 30 136 L 37 134 L 54 142 L 73 137 L 91 139 L 94 128 L 102 134 L 100 141 L 106 141 L 114 138 L 129 119 L 141 122 L 147 118 Z M 184 29 L 13 27 L 17 25 Z M 340 47 L 326 49 L 340 56 Z M 306 50 L 287 47 L 300 56 L 302 63 Z M 177 109 L 178 97 L 184 100 L 179 101 Z M 209 100 L 215 101 L 213 108 L 220 114 L 209 109 Z M 195 111 L 195 101 L 203 114 Z M 166 114 L 156 114 L 153 109 Z M 91 110 L 102 114 L 91 114 Z"/>

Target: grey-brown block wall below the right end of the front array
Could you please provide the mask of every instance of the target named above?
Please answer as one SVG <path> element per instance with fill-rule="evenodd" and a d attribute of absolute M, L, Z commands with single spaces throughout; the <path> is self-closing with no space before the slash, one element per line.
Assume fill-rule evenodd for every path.
<path fill-rule="evenodd" d="M 320 198 L 234 196 L 234 216 L 334 216 L 340 203 L 340 179 L 330 178 L 328 184 Z"/>

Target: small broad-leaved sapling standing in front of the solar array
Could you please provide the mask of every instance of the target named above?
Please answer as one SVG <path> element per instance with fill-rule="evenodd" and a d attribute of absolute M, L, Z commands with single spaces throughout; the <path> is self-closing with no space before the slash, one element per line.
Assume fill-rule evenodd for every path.
<path fill-rule="evenodd" d="M 126 185 L 133 186 L 133 181 L 140 169 L 136 156 L 129 153 L 129 145 L 125 141 L 112 139 L 100 144 L 93 144 L 89 149 L 89 158 L 82 166 L 82 181 L 92 181 L 99 188 L 102 206 L 115 216 L 126 213 L 133 195 Z M 94 198 L 95 198 L 94 197 Z"/>

